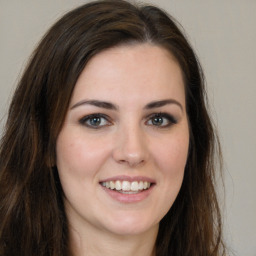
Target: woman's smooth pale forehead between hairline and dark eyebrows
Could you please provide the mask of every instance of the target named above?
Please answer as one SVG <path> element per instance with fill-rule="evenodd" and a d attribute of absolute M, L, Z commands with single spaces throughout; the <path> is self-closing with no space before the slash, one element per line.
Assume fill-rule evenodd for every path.
<path fill-rule="evenodd" d="M 177 97 L 184 103 L 182 71 L 169 51 L 145 44 L 122 45 L 94 56 L 81 73 L 71 101 Z"/>

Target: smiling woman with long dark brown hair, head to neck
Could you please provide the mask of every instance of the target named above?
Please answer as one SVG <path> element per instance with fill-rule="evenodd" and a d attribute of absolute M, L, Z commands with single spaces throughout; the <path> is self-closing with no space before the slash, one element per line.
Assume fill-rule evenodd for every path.
<path fill-rule="evenodd" d="M 223 255 L 205 101 L 163 11 L 107 0 L 67 13 L 10 106 L 0 254 Z"/>

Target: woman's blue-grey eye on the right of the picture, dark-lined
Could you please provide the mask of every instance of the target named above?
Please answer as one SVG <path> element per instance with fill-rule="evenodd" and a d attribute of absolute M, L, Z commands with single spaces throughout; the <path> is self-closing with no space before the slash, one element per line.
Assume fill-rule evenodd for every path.
<path fill-rule="evenodd" d="M 176 124 L 177 120 L 167 113 L 156 113 L 149 117 L 147 125 L 158 126 L 159 128 L 166 128 L 173 124 Z"/>

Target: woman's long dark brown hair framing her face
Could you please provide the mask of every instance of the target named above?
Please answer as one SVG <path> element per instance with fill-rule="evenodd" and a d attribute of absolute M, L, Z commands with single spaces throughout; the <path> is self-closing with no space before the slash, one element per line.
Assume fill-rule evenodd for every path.
<path fill-rule="evenodd" d="M 0 146 L 0 255 L 71 255 L 56 138 L 76 81 L 97 53 L 151 43 L 170 51 L 184 77 L 190 152 L 180 193 L 160 222 L 157 256 L 224 254 L 214 188 L 219 144 L 207 112 L 204 77 L 181 29 L 159 8 L 96 1 L 46 33 L 18 84 Z"/>

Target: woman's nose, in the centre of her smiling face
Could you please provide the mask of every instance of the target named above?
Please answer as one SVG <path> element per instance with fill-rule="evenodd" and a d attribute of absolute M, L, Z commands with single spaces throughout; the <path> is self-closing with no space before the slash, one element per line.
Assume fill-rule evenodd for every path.
<path fill-rule="evenodd" d="M 120 129 L 115 140 L 113 158 L 116 162 L 132 168 L 146 163 L 149 156 L 147 136 L 139 127 Z"/>

